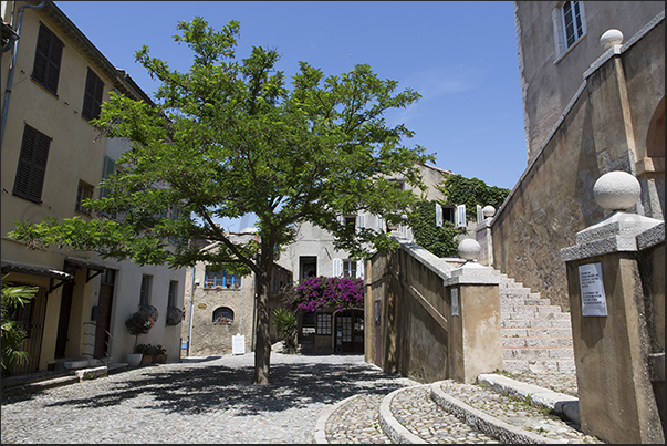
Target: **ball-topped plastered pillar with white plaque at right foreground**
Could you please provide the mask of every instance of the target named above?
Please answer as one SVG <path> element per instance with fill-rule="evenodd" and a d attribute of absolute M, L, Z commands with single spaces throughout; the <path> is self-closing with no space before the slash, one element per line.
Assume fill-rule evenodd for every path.
<path fill-rule="evenodd" d="M 661 220 L 624 211 L 639 183 L 611 172 L 593 188 L 613 211 L 561 250 L 566 262 L 579 403 L 583 432 L 607 443 L 665 443 L 647 366 L 649 335 L 637 235 Z M 663 315 L 664 317 L 664 315 Z"/>

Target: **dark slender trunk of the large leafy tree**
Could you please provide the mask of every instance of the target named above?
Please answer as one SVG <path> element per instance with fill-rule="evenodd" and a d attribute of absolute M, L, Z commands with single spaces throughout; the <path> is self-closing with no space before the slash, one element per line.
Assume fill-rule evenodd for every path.
<path fill-rule="evenodd" d="M 271 365 L 271 312 L 269 310 L 269 290 L 273 270 L 273 245 L 262 242 L 261 273 L 257 277 L 257 328 L 254 344 L 254 378 L 253 384 L 269 384 Z"/>

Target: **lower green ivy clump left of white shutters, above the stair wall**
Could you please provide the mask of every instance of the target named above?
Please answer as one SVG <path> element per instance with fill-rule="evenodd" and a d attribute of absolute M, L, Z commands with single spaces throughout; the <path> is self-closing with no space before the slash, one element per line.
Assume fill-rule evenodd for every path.
<path fill-rule="evenodd" d="M 456 229 L 451 221 L 436 225 L 436 200 L 417 203 L 409 214 L 409 224 L 415 235 L 415 241 L 438 257 L 458 256 L 457 236 L 466 230 Z"/>

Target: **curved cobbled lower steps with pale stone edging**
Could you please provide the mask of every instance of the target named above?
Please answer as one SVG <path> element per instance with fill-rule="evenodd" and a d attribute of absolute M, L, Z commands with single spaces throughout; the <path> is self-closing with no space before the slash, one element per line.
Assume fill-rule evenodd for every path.
<path fill-rule="evenodd" d="M 313 436 L 317 444 L 604 443 L 581 431 L 577 398 L 498 374 L 354 395 L 325 411 Z"/>

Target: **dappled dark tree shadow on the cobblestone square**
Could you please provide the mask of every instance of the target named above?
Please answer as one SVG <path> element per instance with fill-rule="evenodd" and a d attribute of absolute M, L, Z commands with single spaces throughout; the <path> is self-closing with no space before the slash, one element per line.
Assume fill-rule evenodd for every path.
<path fill-rule="evenodd" d="M 207 364 L 160 367 L 129 375 L 105 394 L 69 398 L 51 406 L 104 407 L 149 393 L 150 408 L 181 415 L 233 411 L 236 415 L 281 412 L 313 403 L 335 403 L 356 394 L 383 394 L 404 386 L 365 363 L 271 364 L 271 384 L 253 385 L 253 367 Z M 146 406 L 144 406 L 146 407 Z"/>

